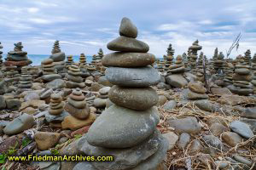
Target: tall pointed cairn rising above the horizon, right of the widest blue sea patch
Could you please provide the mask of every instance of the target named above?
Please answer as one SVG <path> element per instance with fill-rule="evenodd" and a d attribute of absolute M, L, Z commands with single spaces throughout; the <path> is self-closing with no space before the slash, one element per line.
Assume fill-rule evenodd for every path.
<path fill-rule="evenodd" d="M 61 76 L 64 74 L 65 71 L 65 53 L 61 52 L 60 42 L 58 40 L 55 41 L 53 49 L 51 50 L 51 55 L 49 59 L 53 59 L 55 69 L 57 73 L 60 73 Z"/>

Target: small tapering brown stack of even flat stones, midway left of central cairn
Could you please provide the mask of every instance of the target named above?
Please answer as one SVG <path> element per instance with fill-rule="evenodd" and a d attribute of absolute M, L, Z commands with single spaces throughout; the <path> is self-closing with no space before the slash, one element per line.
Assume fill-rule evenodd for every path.
<path fill-rule="evenodd" d="M 67 71 L 67 88 L 84 88 L 85 84 L 81 77 L 82 72 L 78 65 L 70 65 Z"/>

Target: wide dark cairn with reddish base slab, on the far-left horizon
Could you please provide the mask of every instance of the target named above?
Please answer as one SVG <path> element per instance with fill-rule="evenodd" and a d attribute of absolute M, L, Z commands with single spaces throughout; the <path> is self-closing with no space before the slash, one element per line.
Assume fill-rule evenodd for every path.
<path fill-rule="evenodd" d="M 7 54 L 4 65 L 16 65 L 20 68 L 21 66 L 32 64 L 32 60 L 27 58 L 27 53 L 26 51 L 22 51 L 22 48 L 22 42 L 15 43 L 15 49 Z M 21 68 L 19 71 L 21 71 Z"/>

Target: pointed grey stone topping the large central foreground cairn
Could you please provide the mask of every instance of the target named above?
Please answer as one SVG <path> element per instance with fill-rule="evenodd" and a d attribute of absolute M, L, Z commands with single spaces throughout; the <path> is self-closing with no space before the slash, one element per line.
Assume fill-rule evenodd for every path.
<path fill-rule="evenodd" d="M 125 37 L 137 37 L 137 27 L 131 22 L 130 19 L 124 17 L 119 27 L 119 35 Z"/>

